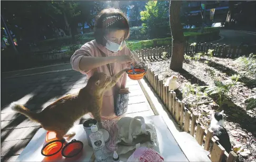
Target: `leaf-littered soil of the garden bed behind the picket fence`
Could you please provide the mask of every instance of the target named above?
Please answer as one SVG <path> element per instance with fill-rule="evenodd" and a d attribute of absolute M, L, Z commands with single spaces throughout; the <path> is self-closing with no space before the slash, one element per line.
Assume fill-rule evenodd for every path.
<path fill-rule="evenodd" d="M 147 66 L 158 75 L 159 79 L 166 81 L 172 75 L 178 77 L 179 89 L 175 90 L 176 96 L 186 103 L 186 107 L 199 115 L 198 120 L 209 127 L 211 114 L 215 111 L 224 110 L 225 128 L 230 135 L 232 146 L 241 145 L 246 150 L 250 150 L 249 155 L 241 155 L 237 150 L 240 161 L 252 161 L 256 159 L 256 109 L 245 110 L 244 100 L 256 94 L 256 81 L 253 77 L 245 75 L 245 71 L 239 68 L 239 62 L 229 58 L 211 59 L 202 57 L 200 60 L 185 60 L 183 70 L 175 72 L 169 69 L 170 59 L 154 60 L 146 62 Z M 240 74 L 241 77 L 234 86 L 233 92 L 228 92 L 227 100 L 219 106 L 216 96 L 208 96 L 200 91 L 200 95 L 185 95 L 186 84 L 196 86 L 213 87 L 214 82 L 211 77 L 211 71 L 214 71 L 215 77 L 223 83 L 229 83 L 233 74 Z M 196 89 L 195 86 L 195 89 Z M 196 106 L 197 105 L 197 106 Z M 233 148 L 234 149 L 234 148 Z"/>

